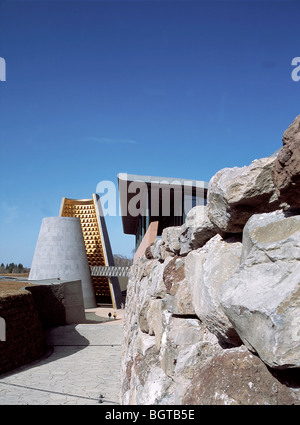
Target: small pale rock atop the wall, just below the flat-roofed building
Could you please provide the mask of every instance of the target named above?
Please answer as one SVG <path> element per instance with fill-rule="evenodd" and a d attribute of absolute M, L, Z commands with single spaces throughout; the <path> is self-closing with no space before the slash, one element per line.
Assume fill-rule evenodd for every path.
<path fill-rule="evenodd" d="M 198 205 L 192 208 L 181 226 L 179 235 L 180 255 L 200 248 L 221 230 L 211 222 L 207 215 L 207 207 Z"/>

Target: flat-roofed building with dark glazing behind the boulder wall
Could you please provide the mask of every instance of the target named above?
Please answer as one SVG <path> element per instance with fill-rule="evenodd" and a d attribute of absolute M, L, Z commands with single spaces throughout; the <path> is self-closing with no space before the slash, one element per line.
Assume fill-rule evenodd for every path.
<path fill-rule="evenodd" d="M 166 227 L 181 226 L 196 205 L 206 205 L 208 182 L 170 177 L 118 174 L 125 234 L 135 235 L 134 261 Z"/>

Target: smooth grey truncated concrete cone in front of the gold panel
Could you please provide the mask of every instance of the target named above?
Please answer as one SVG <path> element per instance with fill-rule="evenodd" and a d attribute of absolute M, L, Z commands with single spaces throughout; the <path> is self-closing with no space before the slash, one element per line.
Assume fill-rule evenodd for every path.
<path fill-rule="evenodd" d="M 28 280 L 43 279 L 81 280 L 84 308 L 97 306 L 79 218 L 43 219 Z"/>

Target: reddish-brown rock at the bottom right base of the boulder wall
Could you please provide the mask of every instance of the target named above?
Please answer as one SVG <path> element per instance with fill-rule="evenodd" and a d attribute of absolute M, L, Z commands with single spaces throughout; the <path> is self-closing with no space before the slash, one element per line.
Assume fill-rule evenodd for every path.
<path fill-rule="evenodd" d="M 182 404 L 300 404 L 299 369 L 273 371 L 245 347 L 212 357 L 194 375 Z"/>

